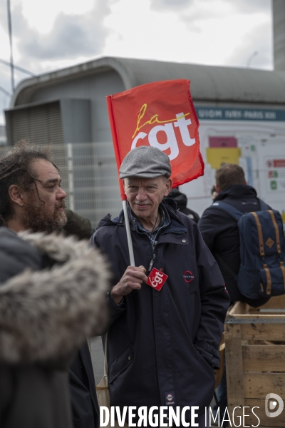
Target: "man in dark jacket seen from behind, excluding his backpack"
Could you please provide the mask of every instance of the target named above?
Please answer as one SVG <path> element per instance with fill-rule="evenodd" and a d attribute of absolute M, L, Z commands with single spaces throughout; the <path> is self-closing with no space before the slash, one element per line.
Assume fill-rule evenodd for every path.
<path fill-rule="evenodd" d="M 217 195 L 214 201 L 222 200 L 234 206 L 242 213 L 260 210 L 260 202 L 256 190 L 247 185 L 244 170 L 235 163 L 224 163 L 215 173 Z M 213 190 L 213 189 L 212 189 Z M 213 192 L 214 196 L 214 192 Z M 224 277 L 225 286 L 229 292 L 231 304 L 237 300 L 247 302 L 254 307 L 264 305 L 268 297 L 249 299 L 239 292 L 237 274 L 240 266 L 239 255 L 239 228 L 237 221 L 231 215 L 212 205 L 204 211 L 198 223 L 204 242 L 207 244 Z M 226 370 L 217 388 L 220 414 L 224 414 L 227 407 L 227 379 Z M 227 422 L 225 422 L 227 426 Z"/>

